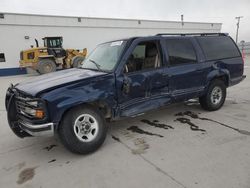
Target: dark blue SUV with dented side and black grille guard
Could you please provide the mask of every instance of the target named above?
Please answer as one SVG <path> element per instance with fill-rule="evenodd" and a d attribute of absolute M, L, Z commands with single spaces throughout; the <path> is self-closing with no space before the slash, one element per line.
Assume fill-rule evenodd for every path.
<path fill-rule="evenodd" d="M 10 86 L 6 109 L 19 137 L 58 134 L 72 152 L 104 142 L 105 121 L 199 98 L 218 110 L 242 81 L 243 60 L 224 33 L 158 34 L 100 44 L 81 67 Z"/>

